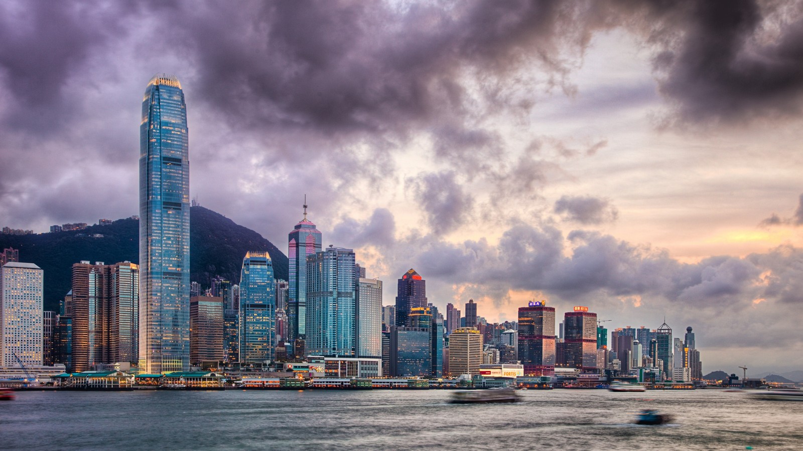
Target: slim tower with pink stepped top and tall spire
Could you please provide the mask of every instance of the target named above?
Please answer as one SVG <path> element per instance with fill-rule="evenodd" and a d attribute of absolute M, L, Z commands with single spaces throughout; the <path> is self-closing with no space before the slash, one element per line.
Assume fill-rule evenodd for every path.
<path fill-rule="evenodd" d="M 307 256 L 320 251 L 321 234 L 315 224 L 307 219 L 307 196 L 304 196 L 304 218 L 287 234 L 287 258 L 290 322 L 287 338 L 293 342 L 304 338 L 307 327 Z"/>

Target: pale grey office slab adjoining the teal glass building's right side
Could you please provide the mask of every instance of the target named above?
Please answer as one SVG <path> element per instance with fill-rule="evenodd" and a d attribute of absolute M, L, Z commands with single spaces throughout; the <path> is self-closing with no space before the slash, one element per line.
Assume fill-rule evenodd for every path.
<path fill-rule="evenodd" d="M 378 359 L 382 356 L 382 281 L 364 277 L 357 280 L 357 326 L 354 329 L 357 357 Z"/>

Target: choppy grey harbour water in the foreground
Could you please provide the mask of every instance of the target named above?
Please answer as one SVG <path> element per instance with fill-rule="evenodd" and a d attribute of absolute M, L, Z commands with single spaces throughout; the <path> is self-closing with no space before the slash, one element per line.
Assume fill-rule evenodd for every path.
<path fill-rule="evenodd" d="M 0 449 L 803 449 L 803 402 L 744 393 L 522 391 L 447 404 L 441 390 L 18 392 Z M 631 424 L 641 408 L 675 424 Z"/>

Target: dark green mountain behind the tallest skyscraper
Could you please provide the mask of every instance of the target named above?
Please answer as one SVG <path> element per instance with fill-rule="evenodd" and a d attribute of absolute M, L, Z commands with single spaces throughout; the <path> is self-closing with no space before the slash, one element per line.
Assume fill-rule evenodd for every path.
<path fill-rule="evenodd" d="M 103 237 L 93 238 L 100 234 Z M 84 230 L 54 234 L 0 234 L 0 250 L 19 250 L 22 262 L 45 271 L 44 308 L 59 310 L 59 300 L 71 289 L 72 264 L 90 262 L 139 262 L 139 221 L 119 219 L 109 225 L 90 225 Z M 190 279 L 209 286 L 215 275 L 240 282 L 243 257 L 249 250 L 267 250 L 275 278 L 287 280 L 287 256 L 254 230 L 200 206 L 190 209 Z"/>

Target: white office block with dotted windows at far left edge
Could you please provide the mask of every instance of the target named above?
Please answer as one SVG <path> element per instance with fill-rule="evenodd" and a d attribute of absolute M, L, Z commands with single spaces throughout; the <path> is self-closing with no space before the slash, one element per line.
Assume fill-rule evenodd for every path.
<path fill-rule="evenodd" d="M 33 263 L 0 267 L 0 366 L 41 366 L 44 271 Z"/>

